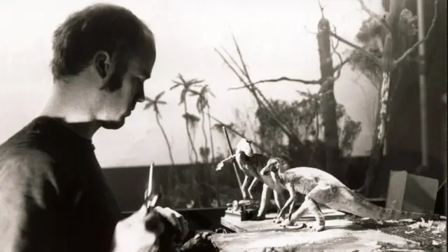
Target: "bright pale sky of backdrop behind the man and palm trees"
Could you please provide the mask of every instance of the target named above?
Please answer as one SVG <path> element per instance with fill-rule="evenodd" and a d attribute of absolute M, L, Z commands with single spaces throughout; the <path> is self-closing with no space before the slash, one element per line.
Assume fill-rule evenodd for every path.
<path fill-rule="evenodd" d="M 52 87 L 50 73 L 51 36 L 69 13 L 97 1 L 7 0 L 0 2 L 0 141 L 3 142 L 41 113 Z M 154 97 L 173 85 L 181 73 L 185 78 L 204 79 L 216 98 L 211 99 L 211 114 L 230 123 L 235 109 L 253 118 L 256 109 L 246 90 L 228 91 L 241 85 L 214 51 L 225 48 L 237 56 L 232 36 L 237 39 L 253 80 L 289 76 L 320 78 L 316 26 L 321 18 L 315 0 L 116 0 L 105 1 L 130 8 L 153 30 L 158 50 L 146 95 Z M 381 1 L 365 0 L 381 14 Z M 337 33 L 350 41 L 367 15 L 357 0 L 321 1 L 325 18 L 337 27 Z M 339 52 L 347 47 L 339 44 Z M 335 64 L 338 59 L 335 58 Z M 317 85 L 299 83 L 261 84 L 267 97 L 291 101 L 295 90 L 316 92 Z M 372 85 L 345 66 L 335 85 L 337 102 L 343 104 L 363 130 L 354 144 L 353 155 L 365 155 L 370 149 L 374 103 L 377 92 Z M 180 90 L 169 91 L 160 107 L 162 124 L 172 144 L 174 161 L 188 162 L 188 139 Z M 188 106 L 195 111 L 195 100 Z M 212 122 L 215 123 L 215 122 Z M 201 130 L 195 143 L 203 143 Z M 168 164 L 169 155 L 152 111 L 137 106 L 120 130 L 99 130 L 94 144 L 103 167 Z M 215 146 L 226 153 L 227 145 L 214 132 Z"/>

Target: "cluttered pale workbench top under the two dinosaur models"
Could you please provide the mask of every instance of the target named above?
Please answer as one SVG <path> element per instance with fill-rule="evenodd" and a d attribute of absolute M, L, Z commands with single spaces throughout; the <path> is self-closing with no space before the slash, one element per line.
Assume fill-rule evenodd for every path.
<path fill-rule="evenodd" d="M 226 214 L 221 218 L 221 225 L 235 233 L 214 234 L 212 237 L 221 252 L 261 252 L 265 248 L 279 247 L 300 247 L 300 251 L 370 252 L 379 247 L 377 241 L 406 243 L 404 238 L 354 225 L 344 220 L 341 212 L 325 207 L 321 210 L 325 214 L 326 227 L 322 232 L 309 232 L 307 228 L 281 228 L 279 224 L 272 223 L 275 214 L 268 214 L 265 221 L 240 221 L 239 216 Z M 315 223 L 310 214 L 300 221 L 307 225 Z"/>

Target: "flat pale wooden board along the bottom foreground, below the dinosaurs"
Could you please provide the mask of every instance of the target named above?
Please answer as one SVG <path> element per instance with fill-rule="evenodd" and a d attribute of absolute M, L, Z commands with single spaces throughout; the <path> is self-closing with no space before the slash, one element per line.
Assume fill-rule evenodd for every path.
<path fill-rule="evenodd" d="M 332 225 L 331 228 L 322 232 L 262 231 L 214 234 L 212 238 L 220 252 L 262 252 L 265 251 L 265 248 L 272 247 L 300 247 L 300 251 L 370 252 L 379 247 L 377 241 L 392 244 L 405 244 L 406 242 L 400 237 L 374 230 L 360 230 L 360 227 L 356 227 L 339 228 L 338 225 Z"/>

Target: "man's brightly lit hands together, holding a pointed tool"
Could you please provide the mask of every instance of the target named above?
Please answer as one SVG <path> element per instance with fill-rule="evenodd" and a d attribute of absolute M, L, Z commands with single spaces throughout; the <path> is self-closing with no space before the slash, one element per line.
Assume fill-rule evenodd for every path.
<path fill-rule="evenodd" d="M 188 233 L 188 222 L 176 211 L 155 207 L 146 214 L 146 206 L 119 221 L 113 252 L 176 251 Z"/>

